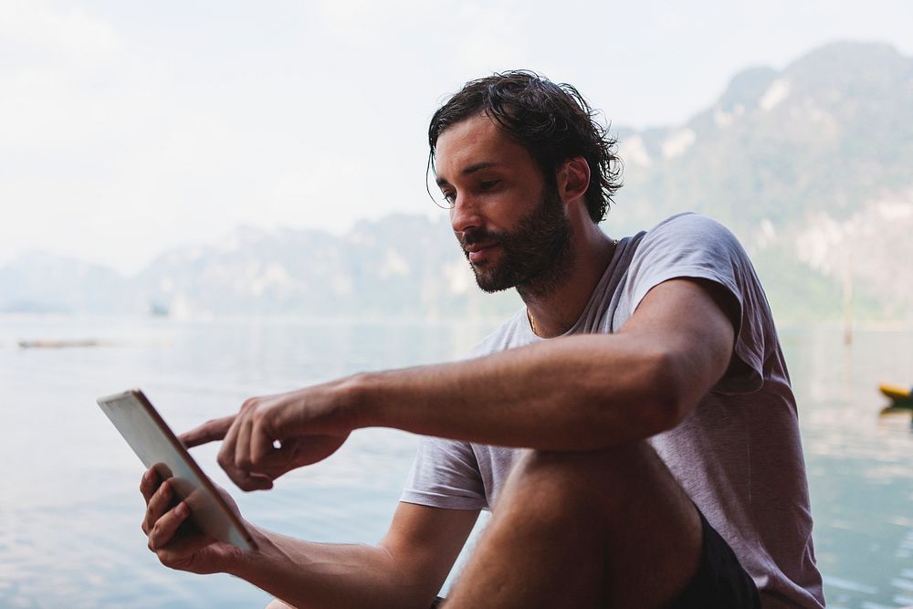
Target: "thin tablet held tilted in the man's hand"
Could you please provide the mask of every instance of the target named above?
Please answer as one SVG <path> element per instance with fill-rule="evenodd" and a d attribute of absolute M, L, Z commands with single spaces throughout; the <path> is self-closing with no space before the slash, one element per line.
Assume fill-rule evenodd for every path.
<path fill-rule="evenodd" d="M 154 467 L 160 478 L 170 480 L 174 493 L 186 501 L 190 517 L 200 530 L 244 550 L 257 548 L 244 523 L 142 391 L 131 389 L 97 401 L 142 465 Z"/>

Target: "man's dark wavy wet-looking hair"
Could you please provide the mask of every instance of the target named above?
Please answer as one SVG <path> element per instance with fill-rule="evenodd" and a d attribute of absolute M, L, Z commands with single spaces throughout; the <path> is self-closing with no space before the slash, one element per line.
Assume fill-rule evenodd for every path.
<path fill-rule="evenodd" d="M 555 173 L 568 159 L 582 156 L 590 165 L 585 200 L 593 222 L 605 218 L 622 186 L 616 140 L 596 120 L 597 112 L 572 85 L 555 84 L 530 70 L 511 70 L 471 80 L 441 106 L 428 127 L 428 167 L 435 171 L 437 138 L 457 122 L 487 114 L 510 138 L 530 152 L 555 184 Z"/>

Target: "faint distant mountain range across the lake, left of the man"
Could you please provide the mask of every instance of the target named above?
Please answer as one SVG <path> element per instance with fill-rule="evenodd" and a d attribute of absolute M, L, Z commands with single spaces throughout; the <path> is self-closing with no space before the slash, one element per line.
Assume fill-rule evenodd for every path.
<path fill-rule="evenodd" d="M 435 319 L 519 304 L 513 292 L 479 292 L 444 216 L 390 215 L 343 236 L 239 228 L 217 246 L 167 252 L 130 278 L 43 254 L 0 267 L 0 312 Z"/>

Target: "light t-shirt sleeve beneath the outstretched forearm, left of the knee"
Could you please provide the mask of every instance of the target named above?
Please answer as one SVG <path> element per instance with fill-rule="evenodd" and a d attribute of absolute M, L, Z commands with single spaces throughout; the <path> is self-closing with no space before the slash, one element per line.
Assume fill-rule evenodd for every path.
<path fill-rule="evenodd" d="M 488 507 L 472 446 L 468 442 L 422 437 L 400 500 L 433 508 Z"/>

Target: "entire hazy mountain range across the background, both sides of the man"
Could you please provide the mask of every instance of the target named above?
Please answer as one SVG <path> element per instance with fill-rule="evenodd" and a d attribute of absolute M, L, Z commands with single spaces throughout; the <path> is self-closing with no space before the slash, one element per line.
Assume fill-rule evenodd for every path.
<path fill-rule="evenodd" d="M 617 130 L 624 188 L 613 236 L 693 210 L 748 249 L 779 320 L 913 320 L 913 59 L 838 43 L 736 75 L 674 127 Z M 0 311 L 173 315 L 503 315 L 475 287 L 442 217 L 393 215 L 343 236 L 239 229 L 131 278 L 31 255 L 0 268 Z"/>

